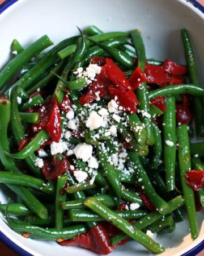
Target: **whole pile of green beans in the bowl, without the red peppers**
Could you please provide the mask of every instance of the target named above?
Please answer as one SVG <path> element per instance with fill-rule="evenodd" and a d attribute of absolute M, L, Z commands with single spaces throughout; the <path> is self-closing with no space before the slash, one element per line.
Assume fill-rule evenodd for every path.
<path fill-rule="evenodd" d="M 204 141 L 191 142 L 189 125 L 176 121 L 176 104 L 181 94 L 193 98 L 195 130 L 203 136 L 204 89 L 198 79 L 188 31 L 181 30 L 181 38 L 189 82 L 163 88 L 153 86 L 151 90 L 143 82 L 135 90 L 139 113 L 118 113 L 121 121 L 112 121 L 117 129 L 117 135 L 112 137 L 106 135 L 107 127 L 91 130 L 86 126 L 84 119 L 90 109 L 108 109 L 110 100 L 104 97 L 89 106 L 81 105 L 79 98 L 88 85 L 84 77 L 76 77 L 75 73 L 79 68 L 86 69 L 94 56 L 111 58 L 128 78 L 137 66 L 145 72 L 146 62 L 162 65 L 160 60 L 146 59 L 139 30 L 103 32 L 91 26 L 86 31 L 79 29 L 79 35 L 48 50 L 52 42 L 47 35 L 27 48 L 13 40 L 11 49 L 16 56 L 0 72 L 0 183 L 14 195 L 9 202 L 0 204 L 0 211 L 11 229 L 24 237 L 60 243 L 106 221 L 118 228 L 118 234 L 108 241 L 110 246 L 124 239 L 135 240 L 158 254 L 165 248 L 148 236 L 147 230 L 176 232 L 176 223 L 184 220 L 186 211 L 192 240 L 199 236 L 195 193 L 186 184 L 185 174 L 188 170 L 204 170 Z M 11 83 L 17 75 L 18 79 Z M 80 136 L 73 133 L 66 138 L 68 149 L 74 152 L 79 144 L 90 145 L 98 167 L 90 167 L 76 153 L 68 155 L 66 149 L 54 156 L 58 162 L 65 158 L 69 161 L 67 170 L 55 180 L 46 180 L 42 167 L 36 164 L 42 145 L 51 141 L 46 127 L 20 151 L 18 148 L 29 138 L 27 131 L 41 121 L 39 107 L 50 96 L 60 106 L 65 94 L 80 126 Z M 150 101 L 159 96 L 165 97 L 164 111 L 150 106 Z M 65 111 L 60 111 L 58 125 L 62 126 L 63 135 L 70 128 Z M 163 126 L 152 121 L 158 117 Z M 107 118 L 112 119 L 113 113 Z M 128 147 L 124 141 L 129 143 Z M 43 164 L 45 160 L 52 161 L 50 143 L 43 149 Z M 110 160 L 113 156 L 119 158 L 121 152 L 125 152 L 122 167 Z M 86 178 L 78 180 L 77 171 L 86 174 Z M 204 207 L 204 188 L 197 195 Z"/>

